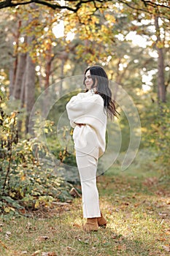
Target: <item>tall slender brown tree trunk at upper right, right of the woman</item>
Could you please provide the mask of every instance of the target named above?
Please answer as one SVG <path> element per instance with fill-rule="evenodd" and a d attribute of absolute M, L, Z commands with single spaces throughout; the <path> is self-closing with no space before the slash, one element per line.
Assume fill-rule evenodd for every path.
<path fill-rule="evenodd" d="M 157 36 L 156 49 L 158 51 L 158 101 L 166 102 L 166 86 L 165 86 L 165 78 L 164 78 L 164 56 L 163 56 L 163 47 L 161 45 L 158 16 L 155 16 L 155 29 L 156 29 L 156 36 Z"/>

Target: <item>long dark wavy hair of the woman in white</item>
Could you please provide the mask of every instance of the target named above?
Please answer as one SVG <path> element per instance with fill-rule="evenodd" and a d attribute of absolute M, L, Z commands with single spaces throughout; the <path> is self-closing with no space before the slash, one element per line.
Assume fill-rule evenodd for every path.
<path fill-rule="evenodd" d="M 107 111 L 107 115 L 112 119 L 114 116 L 118 116 L 119 113 L 115 108 L 115 102 L 112 99 L 112 91 L 109 89 L 109 79 L 107 73 L 100 66 L 88 67 L 85 70 L 85 74 L 90 70 L 90 76 L 93 79 L 93 89 L 96 86 L 96 94 L 101 95 L 104 99 L 104 109 Z M 96 83 L 97 82 L 97 83 Z M 85 85 L 85 78 L 83 81 Z M 86 90 L 88 91 L 88 89 Z"/>

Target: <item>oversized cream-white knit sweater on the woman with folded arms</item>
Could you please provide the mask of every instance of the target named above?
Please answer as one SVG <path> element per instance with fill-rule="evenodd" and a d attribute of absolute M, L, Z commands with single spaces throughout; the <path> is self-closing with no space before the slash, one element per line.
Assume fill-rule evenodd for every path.
<path fill-rule="evenodd" d="M 96 159 L 104 154 L 106 146 L 107 114 L 104 99 L 89 90 L 77 94 L 66 104 L 71 126 L 74 128 L 74 148 Z M 77 124 L 84 124 L 78 126 Z"/>

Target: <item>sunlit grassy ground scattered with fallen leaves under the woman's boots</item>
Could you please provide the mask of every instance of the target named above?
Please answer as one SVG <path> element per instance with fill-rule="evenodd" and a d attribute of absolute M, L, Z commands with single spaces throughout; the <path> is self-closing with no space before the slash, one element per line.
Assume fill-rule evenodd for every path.
<path fill-rule="evenodd" d="M 124 172 L 111 167 L 98 177 L 98 190 L 106 230 L 81 229 L 85 220 L 77 198 L 28 218 L 1 219 L 0 255 L 169 255 L 168 177 L 148 165 L 139 170 L 134 164 Z"/>

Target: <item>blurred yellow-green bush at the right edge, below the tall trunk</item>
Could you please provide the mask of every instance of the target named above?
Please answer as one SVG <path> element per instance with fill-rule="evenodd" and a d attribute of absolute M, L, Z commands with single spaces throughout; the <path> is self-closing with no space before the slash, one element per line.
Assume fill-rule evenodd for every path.
<path fill-rule="evenodd" d="M 148 108 L 148 107 L 147 107 Z M 169 171 L 170 155 L 170 105 L 169 102 L 150 105 L 150 112 L 144 114 L 143 134 L 145 146 L 152 146 L 157 152 L 155 161 L 162 171 Z"/>

